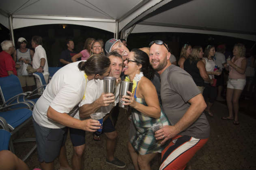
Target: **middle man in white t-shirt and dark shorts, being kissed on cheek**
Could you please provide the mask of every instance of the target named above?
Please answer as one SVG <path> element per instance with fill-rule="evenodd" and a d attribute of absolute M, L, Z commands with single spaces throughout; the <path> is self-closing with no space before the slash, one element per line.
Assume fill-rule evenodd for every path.
<path fill-rule="evenodd" d="M 118 160 L 114 157 L 114 150 L 116 148 L 116 139 L 118 133 L 114 127 L 114 122 L 111 119 L 110 113 L 113 112 L 113 107 L 119 101 L 119 87 L 120 87 L 120 74 L 123 68 L 123 59 L 122 56 L 117 52 L 111 52 L 107 56 L 111 61 L 111 70 L 109 76 L 115 77 L 118 80 L 115 90 L 115 101 L 114 105 L 110 104 L 113 100 L 110 100 L 106 97 L 103 91 L 103 80 L 93 80 L 89 81 L 86 87 L 85 99 L 83 99 L 79 104 L 79 113 L 75 115 L 77 119 L 85 119 L 90 116 L 91 113 L 101 112 L 105 118 L 103 118 L 103 128 L 102 133 L 105 133 L 106 148 L 107 148 L 107 158 L 106 163 L 117 166 L 118 168 L 124 168 L 126 165 L 124 162 Z M 115 107 L 114 107 L 115 108 Z M 113 110 L 112 110 L 113 109 Z M 115 113 L 114 113 L 115 114 Z M 76 134 L 76 135 L 74 135 Z M 85 132 L 79 129 L 71 129 L 70 131 L 71 141 L 74 146 L 74 152 L 79 155 L 76 160 L 77 169 L 82 169 L 82 157 L 85 148 Z M 98 135 L 99 136 L 99 135 Z M 98 152 L 101 150 L 99 149 Z"/>

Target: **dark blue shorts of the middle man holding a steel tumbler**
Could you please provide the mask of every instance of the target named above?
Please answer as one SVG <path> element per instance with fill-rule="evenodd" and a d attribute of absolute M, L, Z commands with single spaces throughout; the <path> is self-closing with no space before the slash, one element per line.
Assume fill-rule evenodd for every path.
<path fill-rule="evenodd" d="M 114 132 L 116 129 L 108 117 L 103 122 L 102 133 Z M 69 128 L 70 139 L 74 147 L 85 144 L 85 131 L 81 129 Z"/>

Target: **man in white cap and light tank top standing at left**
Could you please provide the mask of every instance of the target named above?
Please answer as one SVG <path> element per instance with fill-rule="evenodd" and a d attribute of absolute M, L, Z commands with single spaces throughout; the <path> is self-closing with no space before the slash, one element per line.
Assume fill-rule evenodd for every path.
<path fill-rule="evenodd" d="M 32 91 L 32 86 L 35 85 L 33 76 L 22 75 L 24 63 L 32 65 L 32 59 L 34 56 L 34 51 L 26 48 L 26 45 L 27 40 L 23 37 L 20 37 L 17 42 L 17 47 L 19 48 L 13 53 L 13 60 L 19 62 L 20 64 L 20 68 L 17 69 L 17 75 L 24 92 Z"/>

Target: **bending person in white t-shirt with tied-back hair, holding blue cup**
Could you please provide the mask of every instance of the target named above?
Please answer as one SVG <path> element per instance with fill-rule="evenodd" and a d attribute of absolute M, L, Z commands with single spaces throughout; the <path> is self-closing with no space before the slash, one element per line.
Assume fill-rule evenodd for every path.
<path fill-rule="evenodd" d="M 97 120 L 78 120 L 73 117 L 78 111 L 80 101 L 86 98 L 88 82 L 103 79 L 109 72 L 110 60 L 97 55 L 87 61 L 70 63 L 54 74 L 32 113 L 42 169 L 54 169 L 54 160 L 58 156 L 60 169 L 71 169 L 65 149 L 67 127 L 89 132 L 100 128 L 101 124 Z M 73 154 L 73 165 L 77 164 L 75 156 Z"/>

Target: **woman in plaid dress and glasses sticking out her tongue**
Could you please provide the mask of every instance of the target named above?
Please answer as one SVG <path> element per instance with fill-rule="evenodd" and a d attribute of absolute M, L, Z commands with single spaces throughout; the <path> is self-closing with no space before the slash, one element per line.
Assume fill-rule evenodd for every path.
<path fill-rule="evenodd" d="M 164 149 L 156 141 L 151 126 L 162 122 L 170 125 L 166 115 L 161 111 L 157 91 L 150 81 L 154 71 L 149 64 L 148 55 L 139 49 L 133 49 L 124 62 L 127 67 L 126 80 L 133 82 L 133 93 L 123 96 L 125 105 L 131 107 L 131 128 L 128 149 L 135 169 L 151 169 L 149 162 Z"/>

